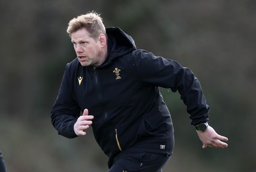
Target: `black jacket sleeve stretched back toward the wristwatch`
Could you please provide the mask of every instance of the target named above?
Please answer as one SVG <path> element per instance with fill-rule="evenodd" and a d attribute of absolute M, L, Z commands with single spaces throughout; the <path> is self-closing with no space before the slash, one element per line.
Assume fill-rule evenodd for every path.
<path fill-rule="evenodd" d="M 157 57 L 143 50 L 135 54 L 136 68 L 143 82 L 170 88 L 173 92 L 178 90 L 180 99 L 187 106 L 191 124 L 207 122 L 209 106 L 200 82 L 189 68 L 182 67 L 177 61 Z"/>

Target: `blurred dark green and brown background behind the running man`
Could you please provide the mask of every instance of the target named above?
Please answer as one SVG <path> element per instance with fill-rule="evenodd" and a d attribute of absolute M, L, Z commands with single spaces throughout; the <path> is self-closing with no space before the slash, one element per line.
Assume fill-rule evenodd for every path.
<path fill-rule="evenodd" d="M 191 68 L 211 107 L 209 124 L 229 138 L 228 148 L 203 150 L 179 94 L 161 89 L 176 141 L 164 171 L 256 171 L 253 0 L 0 1 L 0 150 L 8 171 L 108 171 L 91 130 L 63 138 L 49 115 L 65 64 L 76 57 L 67 23 L 92 10 L 138 48 Z"/>

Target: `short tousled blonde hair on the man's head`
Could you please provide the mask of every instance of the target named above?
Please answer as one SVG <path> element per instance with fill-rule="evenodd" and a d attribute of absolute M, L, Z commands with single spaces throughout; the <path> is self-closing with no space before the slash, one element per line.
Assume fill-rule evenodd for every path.
<path fill-rule="evenodd" d="M 92 38 L 97 38 L 99 34 L 106 34 L 102 18 L 94 11 L 85 15 L 79 15 L 77 18 L 70 20 L 68 22 L 67 33 L 71 36 L 73 32 L 83 28 L 91 34 Z"/>

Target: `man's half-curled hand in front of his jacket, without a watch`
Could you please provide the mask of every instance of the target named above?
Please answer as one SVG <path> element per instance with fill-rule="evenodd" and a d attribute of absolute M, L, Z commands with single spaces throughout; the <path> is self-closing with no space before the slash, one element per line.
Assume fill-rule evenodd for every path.
<path fill-rule="evenodd" d="M 74 131 L 77 136 L 84 136 L 86 132 L 84 130 L 88 129 L 92 125 L 93 115 L 88 115 L 88 109 L 84 109 L 83 115 L 77 118 L 74 124 Z"/>

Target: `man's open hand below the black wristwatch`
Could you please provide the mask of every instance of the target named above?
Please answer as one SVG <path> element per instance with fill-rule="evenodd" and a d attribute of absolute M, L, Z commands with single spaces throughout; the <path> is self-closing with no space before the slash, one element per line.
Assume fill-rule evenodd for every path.
<path fill-rule="evenodd" d="M 214 147 L 214 148 L 226 148 L 228 144 L 223 141 L 228 141 L 228 138 L 221 136 L 209 125 L 204 133 L 196 131 L 200 140 L 203 143 L 202 148 Z"/>

